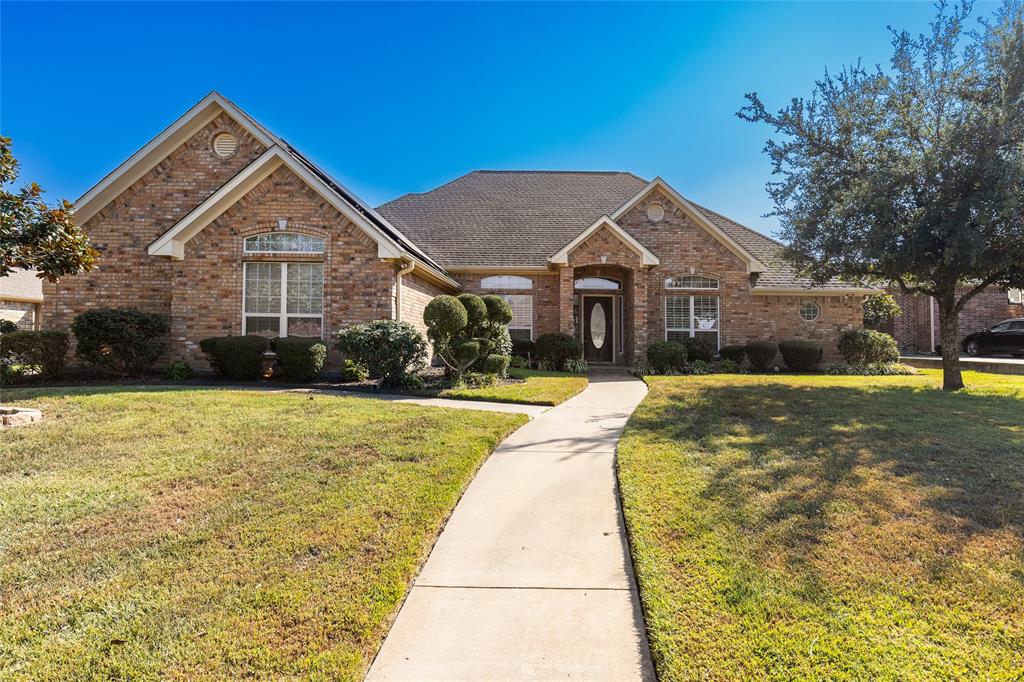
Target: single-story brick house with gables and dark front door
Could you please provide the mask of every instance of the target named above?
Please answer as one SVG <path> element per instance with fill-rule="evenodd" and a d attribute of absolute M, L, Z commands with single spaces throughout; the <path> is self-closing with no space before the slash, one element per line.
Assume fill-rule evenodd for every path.
<path fill-rule="evenodd" d="M 216 92 L 77 216 L 102 257 L 45 285 L 46 325 L 138 306 L 170 317 L 170 359 L 197 364 L 210 336 L 422 330 L 433 296 L 464 291 L 505 296 L 515 337 L 580 335 L 590 361 L 690 336 L 813 339 L 831 358 L 870 292 L 811 287 L 778 243 L 631 173 L 475 171 L 375 209 Z"/>

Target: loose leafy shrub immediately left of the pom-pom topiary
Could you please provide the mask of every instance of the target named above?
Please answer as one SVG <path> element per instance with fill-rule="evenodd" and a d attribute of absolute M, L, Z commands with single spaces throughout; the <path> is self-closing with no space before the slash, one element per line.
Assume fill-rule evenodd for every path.
<path fill-rule="evenodd" d="M 365 367 L 370 378 L 379 379 L 386 388 L 406 385 L 408 375 L 418 374 L 426 365 L 427 342 L 409 323 L 378 319 L 343 329 L 335 338 L 335 347 L 346 358 Z"/>

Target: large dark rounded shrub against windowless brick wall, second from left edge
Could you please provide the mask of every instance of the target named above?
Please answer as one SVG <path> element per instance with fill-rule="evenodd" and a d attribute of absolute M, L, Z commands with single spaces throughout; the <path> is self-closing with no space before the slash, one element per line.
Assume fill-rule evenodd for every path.
<path fill-rule="evenodd" d="M 135 308 L 87 310 L 72 323 L 75 354 L 122 377 L 137 377 L 167 349 L 167 317 Z"/>

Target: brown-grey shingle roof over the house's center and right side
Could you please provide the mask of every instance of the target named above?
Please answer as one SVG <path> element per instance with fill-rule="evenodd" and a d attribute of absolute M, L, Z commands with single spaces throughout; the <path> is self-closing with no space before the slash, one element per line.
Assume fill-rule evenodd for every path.
<path fill-rule="evenodd" d="M 436 189 L 399 197 L 377 212 L 442 267 L 545 266 L 646 185 L 623 172 L 473 171 Z M 781 244 L 690 203 L 768 267 L 758 287 L 810 286 L 782 259 Z"/>

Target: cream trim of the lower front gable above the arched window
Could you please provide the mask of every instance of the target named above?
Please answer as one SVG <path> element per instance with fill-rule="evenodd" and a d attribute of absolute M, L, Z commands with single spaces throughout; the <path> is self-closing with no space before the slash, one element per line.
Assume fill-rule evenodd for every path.
<path fill-rule="evenodd" d="M 287 166 L 339 213 L 373 238 L 377 242 L 377 255 L 380 258 L 409 257 L 409 254 L 394 240 L 368 220 L 360 211 L 343 201 L 338 193 L 311 173 L 305 165 L 300 164 L 291 154 L 278 145 L 264 152 L 220 189 L 217 189 L 206 201 L 181 218 L 173 227 L 157 238 L 150 245 L 150 255 L 170 256 L 175 260 L 183 259 L 185 244 L 190 239 L 199 235 L 207 225 L 220 217 L 224 211 L 252 191 L 256 185 L 282 166 Z"/>

